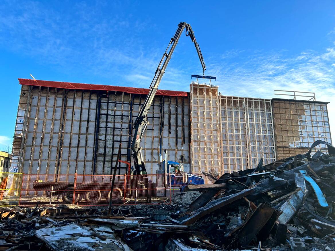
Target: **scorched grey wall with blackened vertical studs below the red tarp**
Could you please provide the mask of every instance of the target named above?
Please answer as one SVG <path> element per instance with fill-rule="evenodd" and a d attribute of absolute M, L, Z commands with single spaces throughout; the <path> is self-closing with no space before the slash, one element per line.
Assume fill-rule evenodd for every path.
<path fill-rule="evenodd" d="M 22 85 L 12 166 L 24 173 L 109 174 L 120 143 L 121 160 L 132 160 L 132 127 L 144 99 L 126 92 Z M 142 141 L 148 173 L 156 172 L 164 149 L 169 159 L 189 165 L 188 109 L 187 97 L 155 97 Z M 119 163 L 119 174 L 126 167 Z"/>

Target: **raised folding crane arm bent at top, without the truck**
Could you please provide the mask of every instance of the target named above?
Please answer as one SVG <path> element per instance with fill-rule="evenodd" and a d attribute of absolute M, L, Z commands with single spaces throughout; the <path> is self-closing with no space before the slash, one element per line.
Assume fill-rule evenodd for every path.
<path fill-rule="evenodd" d="M 194 36 L 194 32 L 192 30 L 191 25 L 189 25 L 188 23 L 182 22 L 180 24 L 178 24 L 178 28 L 177 31 L 175 33 L 175 35 L 171 38 L 169 46 L 167 46 L 165 53 L 163 54 L 162 59 L 159 62 L 159 65 L 157 67 L 157 70 L 155 72 L 155 76 L 151 82 L 150 85 L 150 90 L 148 93 L 148 96 L 146 97 L 142 108 L 140 110 L 140 112 L 137 115 L 137 118 L 135 120 L 134 123 L 134 129 L 135 129 L 135 135 L 132 141 L 132 145 L 131 145 L 131 149 L 133 151 L 133 158 L 134 158 L 134 165 L 135 165 L 135 169 L 136 169 L 136 174 L 140 174 L 140 172 L 142 172 L 142 174 L 146 174 L 146 169 L 145 169 L 145 163 L 144 163 L 144 159 L 141 153 L 142 147 L 140 147 L 140 143 L 143 137 L 143 134 L 147 128 L 147 125 L 149 124 L 148 120 L 147 120 L 147 113 L 150 109 L 151 103 L 155 97 L 156 91 L 158 89 L 158 85 L 160 83 L 160 80 L 163 77 L 163 74 L 165 72 L 166 66 L 167 64 L 169 64 L 169 61 L 171 59 L 172 53 L 174 52 L 178 40 L 180 38 L 180 36 L 182 35 L 184 28 L 186 28 L 186 36 L 189 36 L 192 40 L 192 42 L 194 43 L 194 46 L 197 50 L 199 59 L 200 59 L 200 63 L 203 69 L 203 73 L 206 70 L 206 66 L 205 66 L 205 62 L 204 59 L 202 57 L 201 51 L 200 51 L 200 47 L 199 44 L 197 43 L 195 36 Z"/>

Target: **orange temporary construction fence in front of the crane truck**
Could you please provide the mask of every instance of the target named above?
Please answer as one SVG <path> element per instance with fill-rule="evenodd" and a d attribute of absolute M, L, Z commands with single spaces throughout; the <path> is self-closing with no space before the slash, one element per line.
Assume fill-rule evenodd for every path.
<path fill-rule="evenodd" d="M 80 206 L 171 203 L 171 196 L 199 174 L 113 175 L 23 174 L 19 205 L 76 204 Z"/>

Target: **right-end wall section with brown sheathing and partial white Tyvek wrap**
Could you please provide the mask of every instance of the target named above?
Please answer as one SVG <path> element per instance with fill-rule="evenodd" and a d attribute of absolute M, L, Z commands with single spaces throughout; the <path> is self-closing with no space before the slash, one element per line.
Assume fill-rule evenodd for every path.
<path fill-rule="evenodd" d="M 327 103 L 272 99 L 277 158 L 306 153 L 316 140 L 332 143 Z M 325 145 L 313 152 L 327 152 Z"/>

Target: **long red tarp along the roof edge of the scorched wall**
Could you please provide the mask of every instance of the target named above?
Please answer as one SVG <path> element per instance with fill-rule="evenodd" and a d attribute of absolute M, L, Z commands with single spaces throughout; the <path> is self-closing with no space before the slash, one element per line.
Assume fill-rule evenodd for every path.
<path fill-rule="evenodd" d="M 81 83 L 34 80 L 34 79 L 23 79 L 23 78 L 19 78 L 18 80 L 21 85 L 34 85 L 34 86 L 64 88 L 64 89 L 74 89 L 74 90 L 123 91 L 123 92 L 133 93 L 133 94 L 148 94 L 149 93 L 149 89 L 136 88 L 136 87 L 81 84 Z M 156 95 L 187 97 L 187 92 L 186 91 L 168 91 L 168 90 L 158 89 L 156 92 Z"/>

